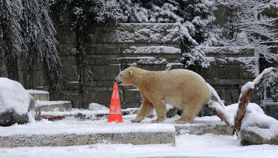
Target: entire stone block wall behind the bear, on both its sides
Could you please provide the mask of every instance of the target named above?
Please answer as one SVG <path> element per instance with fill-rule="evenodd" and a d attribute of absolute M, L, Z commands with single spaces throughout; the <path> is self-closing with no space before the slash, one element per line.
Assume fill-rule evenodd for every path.
<path fill-rule="evenodd" d="M 54 17 L 54 21 L 59 18 Z M 85 49 L 93 80 L 88 94 L 82 95 L 76 67 L 76 34 L 70 30 L 71 19 L 66 11 L 62 19 L 63 25 L 57 25 L 62 91 L 45 86 L 40 60 L 35 61 L 32 70 L 27 69 L 24 57 L 9 65 L 1 62 L 0 75 L 19 81 L 26 89 L 49 91 L 50 100 L 72 101 L 73 107 L 87 109 L 90 103 L 110 106 L 114 79 L 127 67 L 155 71 L 183 68 L 178 24 L 98 23 L 92 26 L 92 38 Z M 248 67 L 255 69 L 254 51 L 214 47 L 204 48 L 204 52 L 211 66 L 197 73 L 216 89 L 227 105 L 237 103 L 242 85 L 254 79 L 254 74 L 246 71 Z M 140 107 L 141 96 L 136 87 L 119 86 L 119 91 L 123 109 Z M 259 103 L 259 96 L 253 95 L 251 102 Z"/>

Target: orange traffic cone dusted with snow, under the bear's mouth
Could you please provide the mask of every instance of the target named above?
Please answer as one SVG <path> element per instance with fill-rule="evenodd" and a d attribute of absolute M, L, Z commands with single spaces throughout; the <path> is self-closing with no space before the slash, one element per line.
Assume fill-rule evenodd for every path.
<path fill-rule="evenodd" d="M 116 123 L 124 122 L 122 117 L 122 111 L 121 111 L 118 84 L 116 82 L 114 83 L 107 122 L 116 122 Z"/>

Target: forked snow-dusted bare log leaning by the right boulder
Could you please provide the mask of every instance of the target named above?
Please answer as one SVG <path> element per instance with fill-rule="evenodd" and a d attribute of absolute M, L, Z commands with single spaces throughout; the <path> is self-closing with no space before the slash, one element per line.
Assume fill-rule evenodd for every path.
<path fill-rule="evenodd" d="M 273 67 L 264 69 L 264 71 L 256 79 L 254 79 L 253 82 L 248 82 L 242 87 L 240 99 L 238 103 L 238 111 L 235 116 L 227 112 L 225 107 L 223 107 L 223 103 L 219 101 L 219 99 L 218 102 L 220 103 L 212 100 L 208 101 L 206 107 L 209 110 L 213 111 L 226 124 L 228 124 L 233 129 L 233 131 L 238 135 L 238 132 L 241 127 L 241 121 L 245 115 L 246 106 L 248 106 L 249 98 L 252 92 L 267 77 L 267 75 L 271 73 L 272 70 Z M 215 90 L 213 88 L 210 89 L 212 91 L 212 94 L 216 96 L 217 93 L 215 92 Z M 216 97 L 219 98 L 218 95 Z"/>

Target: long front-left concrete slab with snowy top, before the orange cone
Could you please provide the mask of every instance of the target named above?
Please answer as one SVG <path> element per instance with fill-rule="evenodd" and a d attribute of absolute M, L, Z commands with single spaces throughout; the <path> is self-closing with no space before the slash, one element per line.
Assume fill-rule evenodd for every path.
<path fill-rule="evenodd" d="M 43 140 L 43 141 L 42 141 Z M 175 128 L 167 124 L 106 123 L 106 120 L 41 120 L 0 128 L 0 147 L 72 146 L 97 143 L 173 144 Z"/>

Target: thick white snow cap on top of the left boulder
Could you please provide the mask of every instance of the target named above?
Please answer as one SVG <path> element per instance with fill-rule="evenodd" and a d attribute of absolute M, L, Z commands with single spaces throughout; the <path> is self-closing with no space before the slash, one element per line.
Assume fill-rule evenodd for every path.
<path fill-rule="evenodd" d="M 0 77 L 0 114 L 12 109 L 19 115 L 26 114 L 30 97 L 20 83 Z"/>

